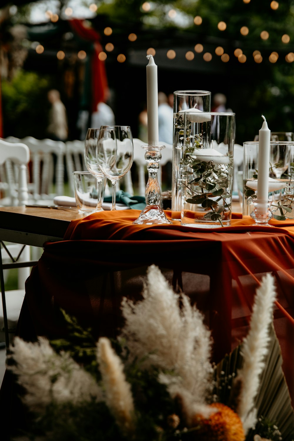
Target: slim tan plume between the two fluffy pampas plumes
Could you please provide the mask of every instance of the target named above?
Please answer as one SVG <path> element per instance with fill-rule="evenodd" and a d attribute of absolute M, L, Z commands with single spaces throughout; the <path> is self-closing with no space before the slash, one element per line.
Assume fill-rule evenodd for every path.
<path fill-rule="evenodd" d="M 123 373 L 123 363 L 106 337 L 97 343 L 97 361 L 105 389 L 105 401 L 118 426 L 125 433 L 134 428 L 134 403 L 130 384 Z"/>

